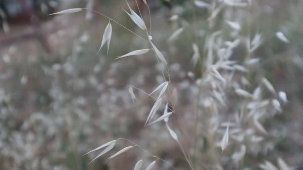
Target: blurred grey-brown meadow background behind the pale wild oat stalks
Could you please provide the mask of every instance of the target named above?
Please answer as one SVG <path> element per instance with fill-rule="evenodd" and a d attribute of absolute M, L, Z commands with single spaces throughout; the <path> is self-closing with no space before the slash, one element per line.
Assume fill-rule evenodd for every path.
<path fill-rule="evenodd" d="M 174 117 L 170 120 L 172 128 L 180 135 L 181 143 L 189 147 L 194 134 L 192 113 L 196 111 L 196 96 L 203 92 L 196 87 L 203 68 L 200 64 L 192 66 L 192 41 L 198 42 L 200 53 L 204 54 L 204 42 L 211 30 L 208 9 L 198 8 L 193 2 L 147 1 L 153 42 L 169 63 L 171 84 L 178 90 L 175 107 L 187 140 L 181 138 Z M 138 13 L 135 1 L 128 3 Z M 276 91 L 287 94 L 289 102 L 282 106 L 282 114 L 263 123 L 271 134 L 267 140 L 270 142 L 260 144 L 264 147 L 259 148 L 258 153 L 247 151 L 243 167 L 258 169 L 258 163 L 274 162 L 277 157 L 282 157 L 291 167 L 299 167 L 303 165 L 303 2 L 258 0 L 251 4 L 250 10 L 220 7 L 222 11 L 212 31 L 233 33 L 224 24 L 224 20 L 233 19 L 241 23 L 243 30 L 249 28 L 251 38 L 257 32 L 262 33 L 262 45 L 253 54 L 260 61 L 252 69 L 250 86 L 256 87 L 258 76 L 265 76 Z M 140 0 L 138 7 L 149 28 L 148 9 Z M 98 153 L 82 156 L 120 137 L 137 143 L 177 169 L 189 169 L 163 123 L 143 128 L 155 100 L 134 89 L 136 101 L 133 102 L 128 91 L 134 86 L 151 93 L 164 82 L 163 66 L 151 53 L 114 60 L 149 45 L 111 21 L 113 35 L 109 53 L 104 47 L 96 54 L 109 19 L 89 10 L 48 16 L 70 8 L 94 9 L 146 37 L 123 11 L 128 10 L 123 0 L 0 0 L 1 169 L 133 169 L 144 155 L 139 149 L 130 150 L 106 164 L 105 159 L 111 154 L 90 164 Z M 172 19 L 174 15 L 179 16 L 177 22 Z M 168 41 L 180 26 L 187 33 L 182 33 L 173 43 Z M 277 31 L 283 32 L 290 43 L 279 40 L 275 36 Z M 245 31 L 239 34 L 247 36 Z M 228 35 L 222 36 L 227 39 Z M 245 51 L 244 45 L 238 46 L 232 58 L 243 62 Z M 233 112 L 233 105 L 239 99 L 231 94 L 228 100 L 220 113 Z M 159 115 L 163 110 L 160 109 Z M 200 139 L 197 150 L 202 156 L 198 161 L 213 164 L 203 135 Z M 130 145 L 120 141 L 111 152 Z M 220 151 L 218 153 L 220 155 Z M 147 165 L 154 159 L 146 157 L 144 161 Z M 215 169 L 207 163 L 196 169 Z M 237 169 L 228 163 L 222 166 Z M 155 169 L 172 168 L 159 161 Z"/>

